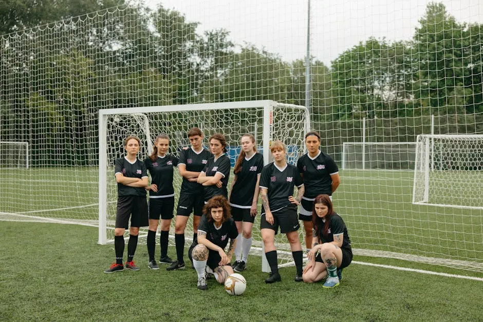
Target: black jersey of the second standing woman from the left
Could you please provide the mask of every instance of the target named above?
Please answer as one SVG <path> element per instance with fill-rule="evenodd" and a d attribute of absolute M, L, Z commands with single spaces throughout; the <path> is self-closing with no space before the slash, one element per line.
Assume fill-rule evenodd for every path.
<path fill-rule="evenodd" d="M 174 196 L 173 189 L 173 167 L 178 165 L 178 158 L 166 154 L 164 157 L 158 156 L 152 161 L 150 158 L 144 160 L 146 168 L 151 175 L 151 183 L 158 186 L 158 191 L 150 190 L 150 198 L 164 198 Z"/>

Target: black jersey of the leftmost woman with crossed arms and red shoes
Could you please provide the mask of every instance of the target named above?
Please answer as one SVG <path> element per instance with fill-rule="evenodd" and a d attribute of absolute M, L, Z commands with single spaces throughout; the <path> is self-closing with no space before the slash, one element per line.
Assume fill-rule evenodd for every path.
<path fill-rule="evenodd" d="M 116 159 L 114 161 L 114 176 L 122 173 L 124 177 L 139 178 L 147 177 L 146 165 L 139 159 L 134 163 L 127 161 L 125 157 Z M 129 187 L 122 183 L 117 184 L 117 193 L 119 197 L 124 196 L 145 196 L 146 190 L 144 187 Z"/>

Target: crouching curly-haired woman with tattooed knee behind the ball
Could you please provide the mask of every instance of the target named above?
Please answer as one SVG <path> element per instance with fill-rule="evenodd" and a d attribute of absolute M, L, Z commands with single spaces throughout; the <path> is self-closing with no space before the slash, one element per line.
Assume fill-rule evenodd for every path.
<path fill-rule="evenodd" d="M 198 244 L 188 253 L 198 273 L 198 289 L 206 290 L 206 271 L 213 272 L 216 280 L 223 284 L 233 269 L 230 266 L 235 250 L 238 230 L 230 215 L 230 204 L 224 196 L 208 200 L 198 225 Z M 225 247 L 230 238 L 230 247 Z M 208 267 L 207 267 L 208 266 Z"/>

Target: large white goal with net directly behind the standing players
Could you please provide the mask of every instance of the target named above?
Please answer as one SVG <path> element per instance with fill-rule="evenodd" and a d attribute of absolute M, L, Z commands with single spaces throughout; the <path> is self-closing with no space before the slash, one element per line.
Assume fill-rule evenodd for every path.
<path fill-rule="evenodd" d="M 280 139 L 287 145 L 288 162 L 304 153 L 304 135 L 309 130 L 308 110 L 304 106 L 280 104 L 274 101 L 247 101 L 231 103 L 188 104 L 99 111 L 99 243 L 114 241 L 116 218 L 117 185 L 114 179 L 114 160 L 124 155 L 123 139 L 136 135 L 142 140 L 139 158 L 146 158 L 152 151 L 153 141 L 159 134 L 171 138 L 170 152 L 178 155 L 181 148 L 188 146 L 187 131 L 197 126 L 205 134 L 205 145 L 215 132 L 225 135 L 229 145 L 228 155 L 234 166 L 239 152 L 239 140 L 245 133 L 255 136 L 258 150 L 264 155 L 265 164 L 270 162 L 270 144 Z M 233 175 L 230 176 L 230 180 Z M 181 177 L 175 172 L 176 200 Z M 192 216 L 185 236 L 192 237 Z M 258 219 L 257 219 L 258 220 Z M 174 220 L 172 221 L 174 225 Z M 262 254 L 262 237 L 259 222 L 253 230 L 253 252 Z M 147 233 L 141 231 L 140 234 Z M 174 234 L 174 227 L 172 229 Z M 126 232 L 127 234 L 127 232 Z M 279 237 L 277 249 L 287 252 L 291 259 L 290 245 Z M 288 255 L 289 254 L 289 255 Z"/>

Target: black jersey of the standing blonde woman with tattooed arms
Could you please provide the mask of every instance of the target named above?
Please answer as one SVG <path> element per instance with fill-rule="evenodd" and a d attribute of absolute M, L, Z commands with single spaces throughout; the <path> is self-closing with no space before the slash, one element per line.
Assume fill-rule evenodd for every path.
<path fill-rule="evenodd" d="M 274 162 L 262 169 L 260 187 L 268 189 L 268 205 L 272 212 L 289 205 L 288 197 L 293 196 L 293 188 L 303 184 L 298 169 L 289 163 L 285 169 L 279 169 Z"/>

